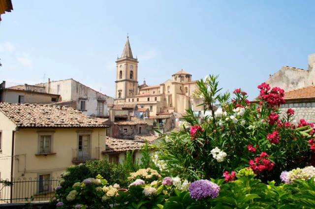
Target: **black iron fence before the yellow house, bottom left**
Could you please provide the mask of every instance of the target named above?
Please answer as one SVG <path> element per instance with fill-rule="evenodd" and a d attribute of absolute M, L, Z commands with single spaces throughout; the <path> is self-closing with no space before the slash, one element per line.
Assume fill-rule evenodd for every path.
<path fill-rule="evenodd" d="M 58 184 L 59 177 L 0 179 L 0 204 L 50 201 Z"/>

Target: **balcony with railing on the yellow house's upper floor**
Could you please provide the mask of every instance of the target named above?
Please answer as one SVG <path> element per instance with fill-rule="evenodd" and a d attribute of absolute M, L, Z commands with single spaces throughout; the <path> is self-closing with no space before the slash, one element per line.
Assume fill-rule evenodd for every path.
<path fill-rule="evenodd" d="M 99 160 L 100 148 L 72 149 L 72 163 L 84 163 L 88 160 Z"/>

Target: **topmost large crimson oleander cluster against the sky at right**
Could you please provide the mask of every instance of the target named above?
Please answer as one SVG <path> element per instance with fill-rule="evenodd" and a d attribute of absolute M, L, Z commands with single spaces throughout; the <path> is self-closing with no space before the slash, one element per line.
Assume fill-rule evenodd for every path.
<path fill-rule="evenodd" d="M 257 87 L 260 90 L 258 98 L 268 103 L 269 107 L 284 104 L 284 90 L 279 87 L 274 87 L 270 90 L 269 84 L 262 83 Z M 269 91 L 270 90 L 270 91 Z"/>

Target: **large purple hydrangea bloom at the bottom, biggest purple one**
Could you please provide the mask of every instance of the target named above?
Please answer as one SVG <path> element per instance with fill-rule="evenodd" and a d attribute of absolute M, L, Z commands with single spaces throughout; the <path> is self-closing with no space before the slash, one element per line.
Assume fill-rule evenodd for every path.
<path fill-rule="evenodd" d="M 218 197 L 220 186 L 209 180 L 196 180 L 189 185 L 189 195 L 192 199 L 200 200 L 205 197 Z"/>

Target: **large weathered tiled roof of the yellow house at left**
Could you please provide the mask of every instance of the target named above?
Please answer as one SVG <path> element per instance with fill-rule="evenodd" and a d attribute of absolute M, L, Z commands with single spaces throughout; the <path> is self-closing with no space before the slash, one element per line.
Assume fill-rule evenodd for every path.
<path fill-rule="evenodd" d="M 68 106 L 0 103 L 0 112 L 18 127 L 106 127 Z"/>

